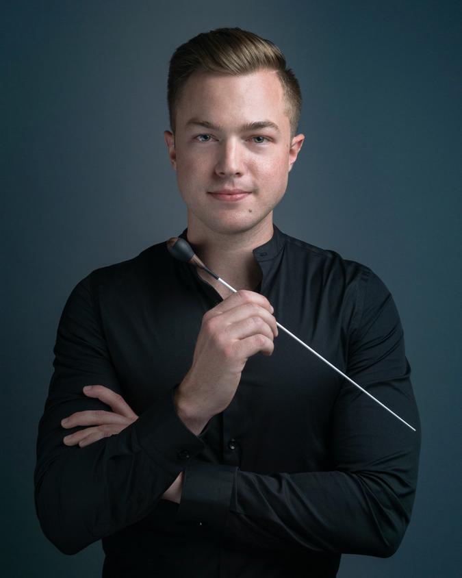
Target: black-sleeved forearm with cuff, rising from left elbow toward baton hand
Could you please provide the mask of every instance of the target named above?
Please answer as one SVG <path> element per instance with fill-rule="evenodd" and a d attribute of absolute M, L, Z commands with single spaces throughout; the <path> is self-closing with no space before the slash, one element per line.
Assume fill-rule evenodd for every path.
<path fill-rule="evenodd" d="M 48 438 L 62 438 L 63 432 Z M 118 435 L 88 447 L 61 441 L 52 448 L 49 439 L 40 436 L 36 507 L 44 533 L 64 553 L 146 516 L 185 467 L 185 456 L 203 448 L 168 399 Z"/>

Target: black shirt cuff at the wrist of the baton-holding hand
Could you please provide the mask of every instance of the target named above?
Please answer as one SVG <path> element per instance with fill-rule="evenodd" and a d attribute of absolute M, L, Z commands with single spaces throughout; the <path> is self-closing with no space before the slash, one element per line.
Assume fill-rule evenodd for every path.
<path fill-rule="evenodd" d="M 159 398 L 144 412 L 133 429 L 140 447 L 172 475 L 203 451 L 205 444 L 181 421 L 173 403 L 175 389 Z"/>

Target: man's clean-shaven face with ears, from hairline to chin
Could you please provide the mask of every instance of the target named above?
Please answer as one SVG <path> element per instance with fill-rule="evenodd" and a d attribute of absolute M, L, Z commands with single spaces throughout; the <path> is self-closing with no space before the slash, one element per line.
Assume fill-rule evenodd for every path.
<path fill-rule="evenodd" d="M 194 73 L 177 103 L 175 137 L 164 135 L 188 230 L 272 227 L 272 210 L 304 139 L 290 137 L 277 73 Z"/>

